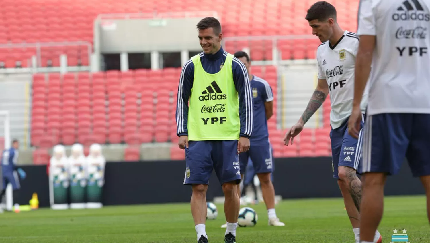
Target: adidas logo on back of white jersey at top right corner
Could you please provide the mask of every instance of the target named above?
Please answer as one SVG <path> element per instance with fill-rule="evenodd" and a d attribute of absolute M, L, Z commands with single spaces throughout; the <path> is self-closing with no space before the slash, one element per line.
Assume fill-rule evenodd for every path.
<path fill-rule="evenodd" d="M 395 13 L 392 18 L 394 21 L 407 21 L 419 20 L 430 21 L 430 14 L 425 13 L 423 6 L 418 0 L 406 0 L 397 8 L 397 11 L 404 11 L 403 13 Z"/>

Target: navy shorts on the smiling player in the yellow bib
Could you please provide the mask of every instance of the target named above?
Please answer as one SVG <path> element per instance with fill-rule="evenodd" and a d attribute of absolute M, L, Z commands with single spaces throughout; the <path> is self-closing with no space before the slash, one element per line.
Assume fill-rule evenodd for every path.
<path fill-rule="evenodd" d="M 230 181 L 240 183 L 237 140 L 189 141 L 188 145 L 184 185 L 209 184 L 213 169 L 221 185 Z"/>

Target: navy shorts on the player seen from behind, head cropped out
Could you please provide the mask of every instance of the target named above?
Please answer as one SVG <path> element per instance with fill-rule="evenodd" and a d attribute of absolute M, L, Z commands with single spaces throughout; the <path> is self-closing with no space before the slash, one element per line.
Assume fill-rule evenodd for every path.
<path fill-rule="evenodd" d="M 362 173 L 397 174 L 406 157 L 414 177 L 430 175 L 430 114 L 376 114 L 364 130 Z"/>

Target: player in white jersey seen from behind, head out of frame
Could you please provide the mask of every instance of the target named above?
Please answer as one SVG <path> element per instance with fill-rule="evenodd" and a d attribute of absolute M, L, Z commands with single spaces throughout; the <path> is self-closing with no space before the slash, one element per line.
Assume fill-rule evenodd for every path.
<path fill-rule="evenodd" d="M 357 137 L 359 104 L 369 79 L 362 153 L 364 243 L 372 241 L 381 221 L 387 175 L 399 172 L 405 156 L 412 174 L 424 184 L 430 217 L 429 31 L 430 0 L 360 3 L 360 45 L 348 128 Z"/>

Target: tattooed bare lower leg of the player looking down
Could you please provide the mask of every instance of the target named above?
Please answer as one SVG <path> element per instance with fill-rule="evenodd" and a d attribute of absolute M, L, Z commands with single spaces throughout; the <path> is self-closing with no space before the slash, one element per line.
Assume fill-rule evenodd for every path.
<path fill-rule="evenodd" d="M 344 198 L 345 209 L 347 210 L 351 224 L 353 228 L 359 228 L 361 181 L 357 177 L 356 171 L 347 166 L 339 166 L 338 184 Z"/>

